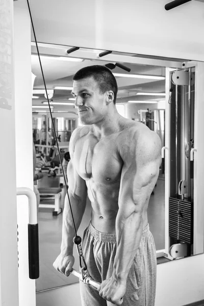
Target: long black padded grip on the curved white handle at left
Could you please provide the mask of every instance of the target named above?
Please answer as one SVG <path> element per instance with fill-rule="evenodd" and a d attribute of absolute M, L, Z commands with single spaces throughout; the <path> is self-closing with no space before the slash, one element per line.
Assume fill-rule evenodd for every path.
<path fill-rule="evenodd" d="M 28 224 L 29 231 L 29 277 L 39 277 L 39 240 L 38 224 Z"/>

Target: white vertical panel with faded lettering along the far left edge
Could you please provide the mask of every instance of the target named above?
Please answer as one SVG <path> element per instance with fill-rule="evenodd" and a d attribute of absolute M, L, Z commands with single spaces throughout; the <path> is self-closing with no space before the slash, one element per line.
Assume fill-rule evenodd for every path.
<path fill-rule="evenodd" d="M 1 2 L 0 16 L 0 305 L 18 306 L 13 0 Z"/>

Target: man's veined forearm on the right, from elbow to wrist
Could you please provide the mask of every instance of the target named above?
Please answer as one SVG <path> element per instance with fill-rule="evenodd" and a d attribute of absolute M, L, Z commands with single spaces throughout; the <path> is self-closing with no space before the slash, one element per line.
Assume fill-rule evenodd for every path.
<path fill-rule="evenodd" d="M 120 209 L 116 218 L 117 251 L 113 275 L 116 279 L 126 280 L 142 237 L 142 215 L 133 213 L 124 218 Z"/>

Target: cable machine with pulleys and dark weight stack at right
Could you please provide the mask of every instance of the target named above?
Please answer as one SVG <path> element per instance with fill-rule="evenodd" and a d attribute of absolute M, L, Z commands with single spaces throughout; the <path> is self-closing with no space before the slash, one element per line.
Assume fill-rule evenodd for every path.
<path fill-rule="evenodd" d="M 170 72 L 169 250 L 165 257 L 171 260 L 193 254 L 194 94 L 195 68 Z"/>

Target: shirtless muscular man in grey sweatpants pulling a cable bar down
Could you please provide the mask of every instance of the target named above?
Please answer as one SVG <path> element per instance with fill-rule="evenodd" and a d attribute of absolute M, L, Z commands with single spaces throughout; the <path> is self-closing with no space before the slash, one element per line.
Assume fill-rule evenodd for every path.
<path fill-rule="evenodd" d="M 91 201 L 82 246 L 90 275 L 101 283 L 97 291 L 80 282 L 82 305 L 154 306 L 157 261 L 147 207 L 159 175 L 161 140 L 143 123 L 119 115 L 117 83 L 108 68 L 82 68 L 73 80 L 83 126 L 69 143 L 68 193 L 77 230 L 87 194 Z M 65 198 L 61 252 L 53 265 L 67 276 L 74 236 Z"/>

